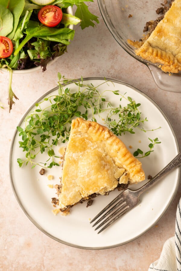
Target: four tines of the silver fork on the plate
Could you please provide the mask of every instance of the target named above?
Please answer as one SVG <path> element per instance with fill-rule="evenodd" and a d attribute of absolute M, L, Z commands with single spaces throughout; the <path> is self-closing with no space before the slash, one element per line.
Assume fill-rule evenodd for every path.
<path fill-rule="evenodd" d="M 94 223 L 94 226 L 96 226 L 98 223 L 100 223 L 104 218 L 102 223 L 100 223 L 97 229 L 100 229 L 100 227 L 103 228 L 100 229 L 100 232 L 102 232 L 104 229 L 106 229 L 108 226 L 110 226 L 112 223 L 114 223 L 116 220 L 119 219 L 123 214 L 125 214 L 128 211 L 129 205 L 126 204 L 126 201 L 123 201 L 122 193 L 119 194 L 113 201 L 111 201 L 103 210 L 100 211 L 100 213 L 95 216 L 90 223 L 93 223 L 95 220 L 98 220 Z M 105 213 L 106 212 L 106 213 Z M 101 216 L 101 217 L 100 217 Z"/>

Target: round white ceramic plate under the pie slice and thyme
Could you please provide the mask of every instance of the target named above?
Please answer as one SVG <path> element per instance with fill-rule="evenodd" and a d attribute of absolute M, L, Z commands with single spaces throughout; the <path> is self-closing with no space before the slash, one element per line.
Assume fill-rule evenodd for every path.
<path fill-rule="evenodd" d="M 179 152 L 179 145 L 173 127 L 161 108 L 146 94 L 126 83 L 114 79 L 109 80 L 114 82 L 114 85 L 112 83 L 109 86 L 103 84 L 98 88 L 100 92 L 105 88 L 118 89 L 122 94 L 126 92 L 126 96 L 130 96 L 137 103 L 141 103 L 141 114 L 148 119 L 144 126 L 145 129 L 150 130 L 161 126 L 160 129 L 155 131 L 145 133 L 136 129 L 135 134 L 121 136 L 122 141 L 125 142 L 128 148 L 130 145 L 132 146 L 131 152 L 134 152 L 137 148 L 148 151 L 148 144 L 150 143 L 148 137 L 151 139 L 158 137 L 161 144 L 154 147 L 155 151 L 150 156 L 141 159 L 146 177 L 148 175 L 154 176 Z M 103 78 L 85 78 L 84 81 L 87 84 L 92 83 L 94 86 L 105 82 Z M 72 84 L 68 87 L 71 88 L 71 86 Z M 50 90 L 36 102 L 50 96 L 50 94 L 58 94 L 58 88 Z M 113 103 L 119 105 L 119 99 L 117 99 L 116 95 L 110 92 L 107 97 Z M 33 110 L 35 103 L 25 113 L 18 126 L 24 127 L 24 118 Z M 99 119 L 98 122 L 103 124 L 102 119 Z M 9 158 L 9 172 L 14 195 L 24 213 L 37 228 L 49 237 L 66 245 L 85 249 L 104 249 L 128 243 L 151 229 L 167 211 L 176 195 L 179 185 L 179 169 L 174 170 L 147 192 L 144 192 L 137 207 L 98 235 L 91 227 L 90 219 L 120 192 L 114 191 L 109 196 L 98 196 L 88 208 L 86 208 L 86 202 L 78 204 L 71 208 L 68 216 L 61 216 L 60 213 L 55 216 L 52 213 L 51 198 L 56 197 L 56 191 L 54 188 L 49 188 L 48 184 L 59 183 L 60 167 L 46 170 L 43 176 L 39 174 L 40 167 L 31 169 L 28 164 L 19 168 L 17 158 L 23 159 L 24 153 L 19 148 L 18 141 L 20 137 L 18 134 L 15 131 Z M 53 180 L 49 181 L 47 175 L 53 175 Z M 136 189 L 147 181 L 148 179 L 141 184 L 132 185 L 132 188 Z"/>

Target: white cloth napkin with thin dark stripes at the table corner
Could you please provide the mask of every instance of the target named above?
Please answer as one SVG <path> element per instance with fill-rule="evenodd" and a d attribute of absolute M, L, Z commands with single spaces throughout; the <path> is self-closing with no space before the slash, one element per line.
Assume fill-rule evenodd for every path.
<path fill-rule="evenodd" d="M 175 236 L 163 246 L 160 259 L 152 263 L 148 271 L 181 271 L 181 198 L 177 205 Z"/>

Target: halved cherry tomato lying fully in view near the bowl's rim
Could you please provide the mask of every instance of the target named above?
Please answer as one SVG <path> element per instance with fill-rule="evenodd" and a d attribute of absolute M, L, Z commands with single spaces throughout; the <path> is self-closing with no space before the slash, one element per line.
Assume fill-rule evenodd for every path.
<path fill-rule="evenodd" d="M 44 25 L 54 27 L 62 20 L 62 10 L 57 6 L 44 6 L 38 12 L 38 19 Z"/>

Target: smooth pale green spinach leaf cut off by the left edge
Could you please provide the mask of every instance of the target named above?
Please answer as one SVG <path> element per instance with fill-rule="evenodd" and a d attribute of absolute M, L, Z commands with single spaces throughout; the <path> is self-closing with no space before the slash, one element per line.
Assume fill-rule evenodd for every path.
<path fill-rule="evenodd" d="M 12 30 L 13 14 L 4 5 L 0 5 L 0 36 L 7 36 Z"/>

